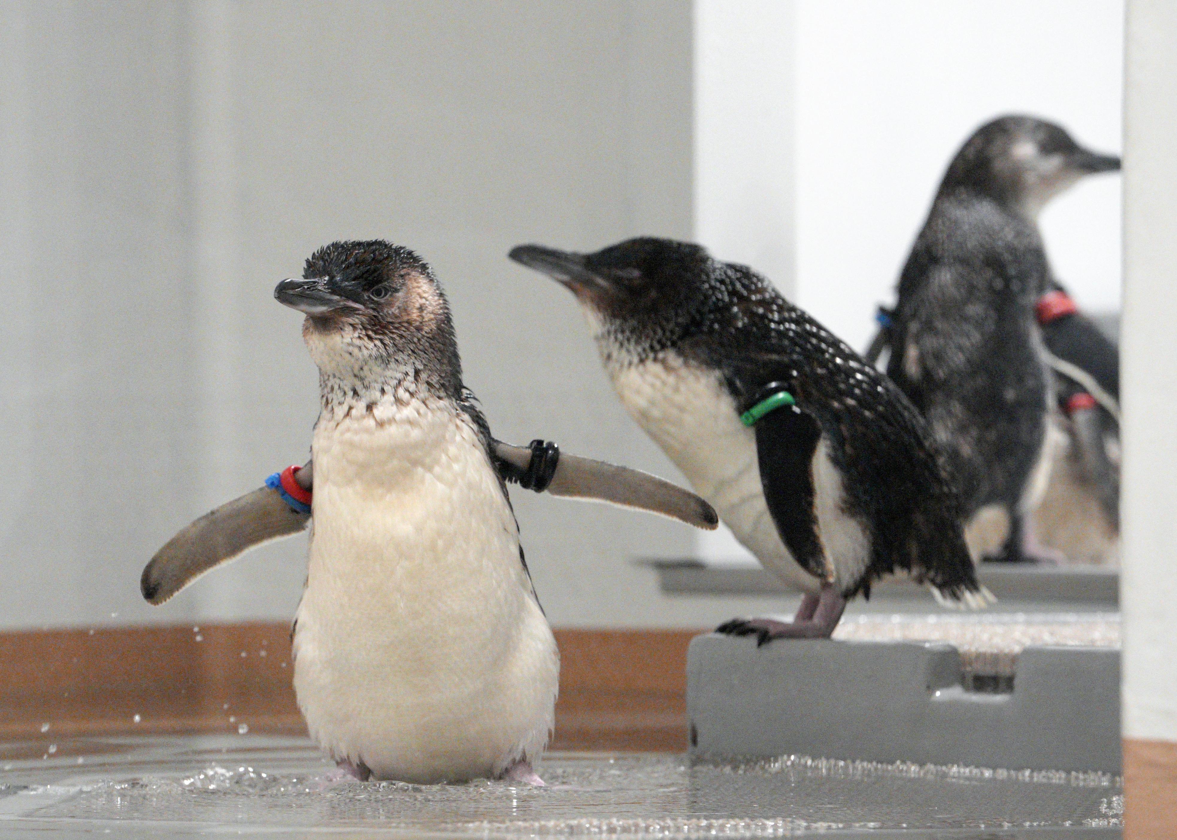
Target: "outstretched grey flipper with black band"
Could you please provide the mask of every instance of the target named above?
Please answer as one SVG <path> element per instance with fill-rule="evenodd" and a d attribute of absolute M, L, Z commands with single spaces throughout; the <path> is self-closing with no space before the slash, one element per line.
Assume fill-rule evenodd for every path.
<path fill-rule="evenodd" d="M 512 446 L 501 440 L 494 440 L 493 448 L 494 455 L 508 465 L 506 478 L 518 480 L 518 475 L 531 472 L 534 448 Z M 550 454 L 552 448 L 540 447 L 540 451 Z M 701 496 L 657 475 L 564 452 L 548 462 L 552 461 L 554 472 L 546 486 L 539 487 L 552 495 L 607 501 L 670 516 L 705 531 L 714 531 L 719 526 L 719 515 Z"/>

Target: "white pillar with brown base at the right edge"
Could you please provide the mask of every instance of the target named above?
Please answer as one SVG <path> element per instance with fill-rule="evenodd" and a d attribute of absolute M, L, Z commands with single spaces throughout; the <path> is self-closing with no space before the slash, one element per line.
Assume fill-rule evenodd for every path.
<path fill-rule="evenodd" d="M 1124 769 L 1129 838 L 1177 836 L 1177 5 L 1128 12 Z"/>

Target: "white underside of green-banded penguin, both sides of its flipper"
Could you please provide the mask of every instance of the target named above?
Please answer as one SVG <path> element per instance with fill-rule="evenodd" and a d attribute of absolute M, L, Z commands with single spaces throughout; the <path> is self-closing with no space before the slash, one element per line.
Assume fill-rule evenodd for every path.
<path fill-rule="evenodd" d="M 756 434 L 740 422 L 718 374 L 673 353 L 606 368 L 630 414 L 711 502 L 736 539 L 785 582 L 817 592 L 822 581 L 797 565 L 780 540 L 764 501 Z M 833 568 L 838 586 L 846 586 L 869 562 L 870 540 L 844 512 L 842 475 L 830 462 L 824 438 L 811 469 L 826 567 Z"/>

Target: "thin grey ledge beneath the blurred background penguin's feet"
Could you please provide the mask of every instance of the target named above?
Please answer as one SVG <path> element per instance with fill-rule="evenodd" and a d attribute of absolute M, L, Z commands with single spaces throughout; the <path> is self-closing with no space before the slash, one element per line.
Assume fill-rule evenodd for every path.
<path fill-rule="evenodd" d="M 714 566 L 691 559 L 649 559 L 636 561 L 658 573 L 666 594 L 771 595 L 797 594 L 779 578 L 763 568 Z M 1116 609 L 1119 600 L 1119 571 L 1102 566 L 1035 567 L 982 565 L 978 580 L 999 600 L 1066 601 L 1092 608 Z M 926 589 L 906 580 L 885 579 L 873 587 L 885 599 L 927 599 Z"/>

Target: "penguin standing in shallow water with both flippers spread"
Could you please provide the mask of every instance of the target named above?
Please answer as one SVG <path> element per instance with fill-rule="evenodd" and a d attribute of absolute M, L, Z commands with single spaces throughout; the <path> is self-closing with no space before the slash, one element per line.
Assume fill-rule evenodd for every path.
<path fill-rule="evenodd" d="M 503 475 L 563 480 L 566 494 L 578 480 L 611 485 L 613 500 L 670 486 L 599 462 L 565 464 L 561 476 L 551 447 L 494 441 L 463 385 L 445 295 L 407 248 L 328 245 L 275 296 L 306 315 L 319 367 L 313 484 L 290 469 L 198 520 L 145 569 L 144 594 L 159 599 L 210 558 L 288 532 L 306 515 L 288 502 L 312 502 L 292 633 L 312 738 L 361 779 L 543 784 L 532 762 L 552 728 L 559 655 Z M 693 507 L 684 518 L 714 521 L 678 493 Z"/>

